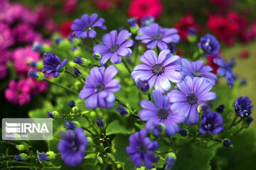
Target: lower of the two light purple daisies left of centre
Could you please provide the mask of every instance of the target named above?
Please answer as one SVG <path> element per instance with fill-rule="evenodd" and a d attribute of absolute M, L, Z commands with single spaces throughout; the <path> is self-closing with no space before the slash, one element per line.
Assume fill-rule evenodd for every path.
<path fill-rule="evenodd" d="M 113 79 L 117 75 L 117 68 L 113 65 L 110 67 L 94 67 L 90 75 L 86 77 L 85 86 L 80 91 L 79 98 L 85 99 L 87 108 L 112 108 L 114 106 L 115 96 L 113 92 L 120 90 L 118 79 Z"/>

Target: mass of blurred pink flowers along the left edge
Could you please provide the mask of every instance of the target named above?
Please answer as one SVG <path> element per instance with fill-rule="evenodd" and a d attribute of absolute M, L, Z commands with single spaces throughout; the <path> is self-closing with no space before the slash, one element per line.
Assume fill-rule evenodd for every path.
<path fill-rule="evenodd" d="M 31 95 L 47 91 L 46 82 L 28 77 L 28 71 L 32 67 L 43 67 L 37 63 L 41 58 L 40 53 L 33 50 L 33 43 L 50 43 L 43 40 L 40 32 L 44 28 L 53 33 L 56 28 L 55 22 L 48 18 L 47 13 L 49 10 L 44 6 L 38 6 L 33 11 L 16 2 L 0 2 L 0 79 L 6 79 L 12 63 L 17 78 L 14 74 L 12 77 L 18 80 L 11 80 L 5 91 L 10 103 L 23 105 L 30 101 Z"/>

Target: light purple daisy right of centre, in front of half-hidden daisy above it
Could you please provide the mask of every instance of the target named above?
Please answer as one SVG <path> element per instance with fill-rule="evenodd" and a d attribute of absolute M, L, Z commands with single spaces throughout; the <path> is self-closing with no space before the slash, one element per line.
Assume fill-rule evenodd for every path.
<path fill-rule="evenodd" d="M 171 111 L 181 113 L 186 117 L 186 124 L 196 124 L 199 120 L 198 106 L 204 101 L 214 101 L 217 96 L 212 85 L 204 78 L 186 77 L 180 84 L 178 90 L 170 91 L 167 96 L 171 104 Z"/>

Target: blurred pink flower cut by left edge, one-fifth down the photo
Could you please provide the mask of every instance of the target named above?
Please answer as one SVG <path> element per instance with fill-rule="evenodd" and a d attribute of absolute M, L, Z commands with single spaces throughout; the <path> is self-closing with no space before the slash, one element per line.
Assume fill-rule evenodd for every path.
<path fill-rule="evenodd" d="M 13 44 L 14 38 L 11 35 L 11 30 L 9 26 L 0 22 L 0 50 L 4 50 Z"/>

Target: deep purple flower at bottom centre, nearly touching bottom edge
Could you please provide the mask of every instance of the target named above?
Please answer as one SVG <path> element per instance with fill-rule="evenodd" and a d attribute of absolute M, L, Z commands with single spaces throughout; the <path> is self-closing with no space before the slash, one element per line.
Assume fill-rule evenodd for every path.
<path fill-rule="evenodd" d="M 158 142 L 151 141 L 146 137 L 146 130 L 135 132 L 129 137 L 129 147 L 126 148 L 127 154 L 134 164 L 140 168 L 142 162 L 144 165 L 152 169 L 154 165 L 152 162 L 157 162 L 159 158 L 154 157 L 154 151 L 159 147 Z"/>

